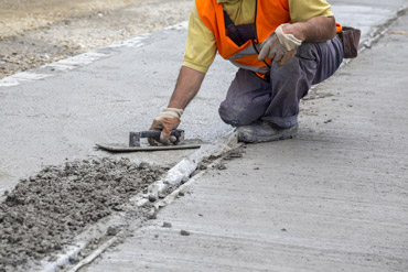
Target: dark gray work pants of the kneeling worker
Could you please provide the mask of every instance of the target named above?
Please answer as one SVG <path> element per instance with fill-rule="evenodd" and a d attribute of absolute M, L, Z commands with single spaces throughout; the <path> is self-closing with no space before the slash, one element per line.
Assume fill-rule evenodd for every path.
<path fill-rule="evenodd" d="M 219 106 L 219 116 L 234 127 L 257 120 L 293 127 L 298 123 L 300 99 L 313 84 L 332 76 L 342 62 L 343 45 L 334 37 L 323 43 L 303 43 L 282 67 L 273 62 L 270 83 L 240 68 Z"/>

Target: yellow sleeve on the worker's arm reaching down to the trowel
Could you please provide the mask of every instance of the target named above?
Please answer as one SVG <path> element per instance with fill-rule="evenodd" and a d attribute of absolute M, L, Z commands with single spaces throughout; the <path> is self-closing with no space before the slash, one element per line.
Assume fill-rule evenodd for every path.
<path fill-rule="evenodd" d="M 217 44 L 214 33 L 203 23 L 195 7 L 189 19 L 189 34 L 183 66 L 206 73 L 214 62 Z"/>

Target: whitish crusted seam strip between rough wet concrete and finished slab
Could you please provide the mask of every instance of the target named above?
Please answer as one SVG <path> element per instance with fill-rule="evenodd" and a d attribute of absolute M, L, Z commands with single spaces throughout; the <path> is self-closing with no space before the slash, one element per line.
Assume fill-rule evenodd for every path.
<path fill-rule="evenodd" d="M 191 154 L 189 157 L 182 160 L 175 166 L 169 170 L 168 174 L 162 179 L 157 181 L 152 185 L 150 185 L 148 194 L 140 193 L 132 197 L 127 204 L 128 209 L 130 210 L 135 207 L 142 208 L 150 203 L 149 196 L 154 195 L 157 199 L 159 199 L 162 195 L 165 194 L 165 192 L 171 191 L 172 186 L 178 186 L 175 189 L 172 189 L 170 193 L 168 193 L 164 198 L 162 198 L 161 200 L 157 202 L 153 205 L 148 216 L 150 218 L 154 218 L 157 213 L 159 213 L 161 208 L 171 204 L 176 198 L 180 192 L 185 191 L 186 187 L 189 187 L 191 184 L 197 181 L 205 173 L 205 170 L 200 171 L 192 178 L 187 179 L 184 184 L 180 185 L 182 181 L 185 181 L 186 178 L 190 177 L 190 175 L 197 168 L 197 165 L 204 159 L 211 156 L 218 157 L 217 160 L 213 161 L 210 164 L 210 167 L 212 167 L 219 163 L 221 160 L 223 160 L 223 155 L 238 146 L 239 146 L 238 138 L 235 131 L 232 131 L 226 137 L 219 139 L 216 144 L 203 145 L 201 149 Z M 42 260 L 40 264 L 41 269 L 39 269 L 39 271 L 54 272 L 58 271 L 60 266 L 64 266 L 69 268 L 68 271 L 74 272 L 83 268 L 84 265 L 93 262 L 106 249 L 108 249 L 115 243 L 120 242 L 120 235 L 124 233 L 125 229 L 124 226 L 126 226 L 126 224 L 129 224 L 129 221 L 124 224 L 124 216 L 125 213 L 118 213 L 112 216 L 109 216 L 101 222 L 90 226 L 88 229 L 79 233 L 74 239 L 73 244 L 75 246 L 67 247 L 67 250 L 64 253 L 58 254 L 56 261 L 47 262 L 45 260 Z M 136 221 L 137 219 L 130 222 Z M 106 236 L 106 230 L 109 227 L 119 228 L 119 231 L 116 233 L 116 236 L 105 240 L 95 250 L 93 250 L 85 259 L 83 259 L 80 262 L 73 266 L 71 260 L 76 259 L 78 253 L 86 249 L 86 247 L 93 239 L 104 238 Z"/>

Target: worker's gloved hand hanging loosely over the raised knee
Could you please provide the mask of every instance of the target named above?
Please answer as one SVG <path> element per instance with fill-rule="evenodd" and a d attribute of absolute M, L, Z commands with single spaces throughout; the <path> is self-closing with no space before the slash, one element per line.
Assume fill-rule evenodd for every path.
<path fill-rule="evenodd" d="M 264 61 L 269 57 L 276 62 L 279 67 L 287 64 L 297 53 L 297 48 L 302 44 L 302 41 L 294 37 L 292 34 L 283 33 L 284 24 L 279 25 L 276 31 L 270 34 L 262 43 L 258 59 Z"/>

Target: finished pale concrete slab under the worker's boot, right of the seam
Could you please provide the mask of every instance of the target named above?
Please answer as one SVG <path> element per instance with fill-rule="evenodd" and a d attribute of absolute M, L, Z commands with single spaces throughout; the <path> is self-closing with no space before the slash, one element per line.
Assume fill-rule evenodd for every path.
<path fill-rule="evenodd" d="M 298 138 L 247 145 L 82 271 L 408 271 L 407 25 L 309 95 Z"/>

